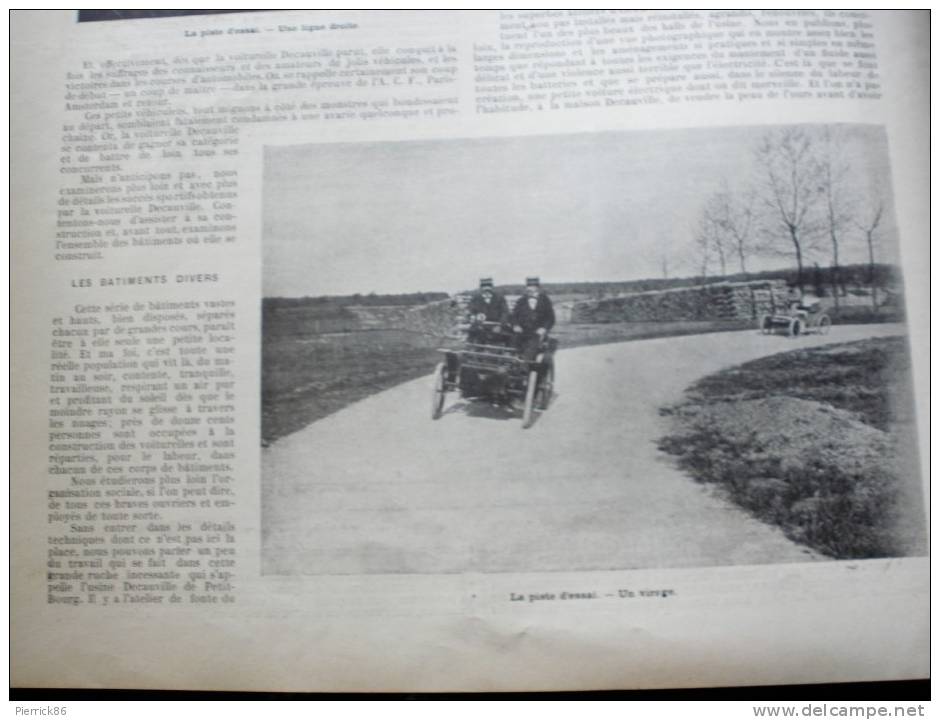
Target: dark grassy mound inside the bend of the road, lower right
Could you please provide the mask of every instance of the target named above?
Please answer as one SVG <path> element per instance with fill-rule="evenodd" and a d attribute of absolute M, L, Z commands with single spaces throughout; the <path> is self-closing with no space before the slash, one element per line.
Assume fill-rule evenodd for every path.
<path fill-rule="evenodd" d="M 834 558 L 925 550 L 907 339 L 795 350 L 706 377 L 660 448 Z"/>

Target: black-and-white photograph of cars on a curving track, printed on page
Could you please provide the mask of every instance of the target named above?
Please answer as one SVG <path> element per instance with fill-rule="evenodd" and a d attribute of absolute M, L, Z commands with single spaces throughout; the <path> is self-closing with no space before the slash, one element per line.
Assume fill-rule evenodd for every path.
<path fill-rule="evenodd" d="M 926 553 L 877 125 L 267 146 L 262 572 Z"/>

